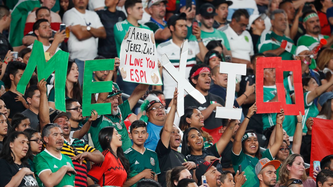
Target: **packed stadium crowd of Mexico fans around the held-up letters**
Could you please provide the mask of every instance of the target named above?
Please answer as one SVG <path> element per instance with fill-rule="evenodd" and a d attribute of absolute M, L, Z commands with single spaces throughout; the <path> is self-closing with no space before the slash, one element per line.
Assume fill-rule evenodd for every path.
<path fill-rule="evenodd" d="M 184 95 L 177 117 L 183 95 L 160 62 L 163 86 L 122 80 L 131 26 L 152 30 L 159 61 L 166 54 L 176 68 L 188 40 L 185 78 L 205 103 Z M 331 187 L 333 153 L 313 171 L 305 163 L 313 118 L 333 120 L 332 31 L 331 0 L 0 0 L 0 187 Z M 46 61 L 70 54 L 66 112 L 55 108 L 54 74 L 38 81 L 36 70 L 16 92 L 35 40 Z M 259 57 L 299 60 L 305 115 L 256 113 Z M 113 81 L 112 92 L 92 95 L 111 111 L 83 116 L 84 63 L 93 59 L 115 59 L 92 77 Z M 228 82 L 220 61 L 247 67 L 236 77 L 240 120 L 215 117 Z M 264 102 L 278 101 L 275 77 L 264 69 Z M 283 79 L 295 103 L 292 73 Z"/>

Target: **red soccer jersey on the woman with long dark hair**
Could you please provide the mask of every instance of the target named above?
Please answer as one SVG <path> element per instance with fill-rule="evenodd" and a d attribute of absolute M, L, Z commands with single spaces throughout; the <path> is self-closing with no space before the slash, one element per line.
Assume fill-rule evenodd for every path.
<path fill-rule="evenodd" d="M 94 164 L 88 172 L 88 177 L 98 182 L 101 186 L 123 186 L 127 173 L 119 158 L 109 150 L 102 152 L 105 159 L 99 164 Z"/>

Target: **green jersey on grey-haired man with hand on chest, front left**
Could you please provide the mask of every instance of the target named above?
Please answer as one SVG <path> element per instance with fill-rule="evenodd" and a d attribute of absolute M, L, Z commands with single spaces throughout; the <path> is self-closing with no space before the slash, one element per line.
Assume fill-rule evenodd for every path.
<path fill-rule="evenodd" d="M 60 158 L 52 155 L 47 149 L 44 149 L 41 153 L 37 154 L 34 158 L 34 173 L 39 186 L 45 187 L 42 181 L 39 179 L 39 175 L 46 171 L 51 170 L 52 173 L 57 172 L 62 166 L 71 166 L 74 169 L 73 162 L 70 157 L 61 154 Z M 63 187 L 65 185 L 74 186 L 75 175 L 71 176 L 65 174 L 59 184 L 54 187 Z"/>

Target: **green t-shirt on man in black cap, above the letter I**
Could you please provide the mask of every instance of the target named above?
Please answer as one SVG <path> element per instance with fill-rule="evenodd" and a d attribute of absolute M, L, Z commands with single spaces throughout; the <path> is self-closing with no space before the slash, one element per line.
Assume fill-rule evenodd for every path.
<path fill-rule="evenodd" d="M 192 31 L 187 31 L 187 32 L 191 33 Z M 208 42 L 210 42 L 212 40 L 221 40 L 221 44 L 223 44 L 227 50 L 230 50 L 228 38 L 225 35 L 225 33 L 222 31 L 219 31 L 216 29 L 214 29 L 214 31 L 211 33 L 201 31 L 201 38 L 202 38 L 202 42 L 203 42 L 204 46 L 206 46 L 208 44 Z M 188 38 L 188 40 L 197 41 L 196 37 L 194 35 L 191 35 Z"/>

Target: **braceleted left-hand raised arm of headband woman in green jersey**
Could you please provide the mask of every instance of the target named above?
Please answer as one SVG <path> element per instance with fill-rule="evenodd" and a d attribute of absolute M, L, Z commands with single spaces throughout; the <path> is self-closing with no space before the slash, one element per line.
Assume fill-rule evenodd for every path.
<path fill-rule="evenodd" d="M 242 150 L 242 137 L 245 133 L 247 124 L 249 123 L 249 120 L 250 120 L 248 118 L 251 118 L 252 115 L 254 114 L 254 112 L 256 112 L 256 111 L 257 111 L 257 106 L 256 106 L 256 103 L 254 103 L 249 108 L 249 111 L 247 112 L 245 119 L 238 127 L 238 130 L 235 134 L 235 139 L 233 140 L 233 144 L 232 144 L 232 152 L 235 153 L 236 155 L 238 155 L 240 153 L 240 151 Z"/>

